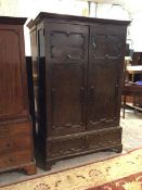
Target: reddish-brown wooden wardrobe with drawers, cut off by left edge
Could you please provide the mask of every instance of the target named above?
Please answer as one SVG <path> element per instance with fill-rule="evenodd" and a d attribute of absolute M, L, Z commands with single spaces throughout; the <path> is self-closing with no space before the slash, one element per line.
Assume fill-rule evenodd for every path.
<path fill-rule="evenodd" d="M 23 25 L 26 18 L 0 16 L 0 172 L 36 173 L 28 109 Z"/>

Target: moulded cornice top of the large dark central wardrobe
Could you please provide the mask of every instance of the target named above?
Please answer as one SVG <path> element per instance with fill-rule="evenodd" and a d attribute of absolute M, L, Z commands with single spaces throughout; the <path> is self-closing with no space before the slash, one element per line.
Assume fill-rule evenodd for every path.
<path fill-rule="evenodd" d="M 75 16 L 75 15 L 40 12 L 34 21 L 31 20 L 27 24 L 27 26 L 29 28 L 31 28 L 34 25 L 38 24 L 39 22 L 41 22 L 44 18 L 86 22 L 86 23 L 107 23 L 107 24 L 117 24 L 117 25 L 129 25 L 130 24 L 130 21 L 105 20 L 105 18 L 95 18 L 95 17 L 86 17 L 86 16 Z"/>

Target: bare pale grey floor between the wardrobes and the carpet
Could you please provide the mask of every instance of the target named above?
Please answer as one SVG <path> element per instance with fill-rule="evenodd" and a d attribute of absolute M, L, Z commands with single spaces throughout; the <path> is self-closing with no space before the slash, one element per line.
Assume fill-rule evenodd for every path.
<path fill-rule="evenodd" d="M 134 113 L 133 110 L 126 110 L 126 118 L 120 117 L 120 126 L 122 127 L 122 153 L 126 153 L 133 149 L 142 148 L 142 113 Z M 118 153 L 100 152 L 75 159 L 69 159 L 66 161 L 61 161 L 53 165 L 50 172 L 44 172 L 38 168 L 37 174 L 33 176 L 27 176 L 22 170 L 12 170 L 0 174 L 0 186 L 9 185 L 11 182 L 16 182 L 20 180 L 30 179 L 34 177 L 38 177 L 42 174 L 50 174 L 57 170 L 72 168 L 90 162 L 105 160 L 114 155 L 118 155 Z"/>

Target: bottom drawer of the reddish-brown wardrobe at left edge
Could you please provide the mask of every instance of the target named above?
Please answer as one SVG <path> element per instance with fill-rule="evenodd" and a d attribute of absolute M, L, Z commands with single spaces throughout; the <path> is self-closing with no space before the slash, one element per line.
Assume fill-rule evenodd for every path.
<path fill-rule="evenodd" d="M 0 169 L 26 164 L 31 161 L 31 150 L 20 150 L 16 152 L 0 154 Z"/>

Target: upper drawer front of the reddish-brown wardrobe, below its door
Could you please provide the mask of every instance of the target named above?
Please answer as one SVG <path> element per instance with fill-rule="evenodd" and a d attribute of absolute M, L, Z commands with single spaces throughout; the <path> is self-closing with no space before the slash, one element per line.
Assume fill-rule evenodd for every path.
<path fill-rule="evenodd" d="M 31 144 L 30 125 L 16 124 L 0 126 L 0 151 L 26 148 Z"/>

